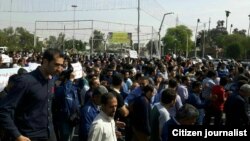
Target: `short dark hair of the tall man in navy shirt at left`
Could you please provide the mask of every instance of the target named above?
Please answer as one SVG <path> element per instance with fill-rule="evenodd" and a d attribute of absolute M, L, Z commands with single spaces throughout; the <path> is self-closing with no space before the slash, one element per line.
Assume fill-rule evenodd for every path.
<path fill-rule="evenodd" d="M 64 54 L 59 49 L 49 48 L 43 53 L 43 60 L 46 59 L 48 62 L 51 62 L 55 59 L 56 56 L 64 58 Z"/>

